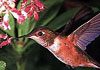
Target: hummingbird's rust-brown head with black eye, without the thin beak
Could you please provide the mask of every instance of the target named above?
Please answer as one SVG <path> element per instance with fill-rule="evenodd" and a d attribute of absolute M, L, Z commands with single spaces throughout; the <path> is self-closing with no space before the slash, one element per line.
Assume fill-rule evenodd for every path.
<path fill-rule="evenodd" d="M 46 26 L 40 26 L 30 32 L 27 37 L 35 40 L 44 47 L 48 47 L 53 44 L 56 33 Z"/>

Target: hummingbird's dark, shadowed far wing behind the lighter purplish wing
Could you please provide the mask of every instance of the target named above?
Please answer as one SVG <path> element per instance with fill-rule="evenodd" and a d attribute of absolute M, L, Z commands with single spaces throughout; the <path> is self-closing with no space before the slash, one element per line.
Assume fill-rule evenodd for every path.
<path fill-rule="evenodd" d="M 78 22 L 82 18 L 87 18 L 89 19 L 91 16 L 90 14 L 93 13 L 92 8 L 83 5 L 76 13 L 75 15 L 67 22 L 65 25 L 65 28 L 62 33 L 68 32 L 68 30 L 71 28 L 71 26 L 75 25 L 76 22 Z"/>

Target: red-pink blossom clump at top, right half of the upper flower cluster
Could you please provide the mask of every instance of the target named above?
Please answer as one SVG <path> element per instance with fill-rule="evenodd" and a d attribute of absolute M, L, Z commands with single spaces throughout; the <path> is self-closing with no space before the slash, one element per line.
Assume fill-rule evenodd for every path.
<path fill-rule="evenodd" d="M 38 0 L 31 0 L 31 3 L 28 4 L 26 8 L 24 8 L 23 4 L 26 4 L 26 3 L 27 3 L 27 0 L 24 0 L 22 2 L 21 8 L 20 8 L 20 10 L 22 11 L 22 14 L 28 18 L 34 15 L 35 20 L 38 20 L 39 19 L 38 12 L 42 12 L 45 6 L 42 3 L 40 3 Z"/>

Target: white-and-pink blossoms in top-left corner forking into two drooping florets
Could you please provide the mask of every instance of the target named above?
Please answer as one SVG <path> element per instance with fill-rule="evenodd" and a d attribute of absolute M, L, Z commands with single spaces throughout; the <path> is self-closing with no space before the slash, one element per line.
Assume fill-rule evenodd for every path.
<path fill-rule="evenodd" d="M 9 13 L 17 19 L 18 23 L 22 24 L 25 21 L 25 16 L 15 8 L 16 0 L 0 0 L 0 14 L 4 14 L 3 19 L 0 21 L 0 27 L 4 30 L 11 29 L 9 22 Z"/>

